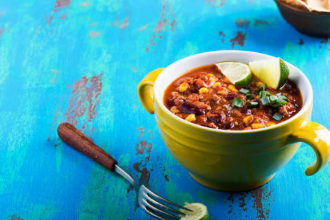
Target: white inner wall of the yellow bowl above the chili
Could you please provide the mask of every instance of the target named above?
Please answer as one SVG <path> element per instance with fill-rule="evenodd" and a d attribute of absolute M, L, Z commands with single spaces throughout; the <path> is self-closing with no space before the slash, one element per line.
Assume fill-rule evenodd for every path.
<path fill-rule="evenodd" d="M 168 85 L 170 85 L 170 83 L 179 78 L 179 76 L 188 72 L 188 70 L 190 69 L 223 61 L 249 63 L 250 61 L 261 61 L 270 58 L 274 58 L 274 56 L 260 54 L 256 52 L 233 50 L 206 52 L 202 54 L 188 56 L 169 65 L 168 67 L 166 67 L 166 69 L 164 69 L 161 74 L 159 74 L 153 88 L 155 99 L 160 104 L 162 109 L 164 109 L 165 111 L 169 111 L 168 109 L 166 109 L 163 103 L 164 91 L 166 90 Z M 303 72 L 301 72 L 297 67 L 290 63 L 287 63 L 287 66 L 289 67 L 290 71 L 289 79 L 296 83 L 303 96 L 303 109 L 300 110 L 300 113 L 302 113 L 312 100 L 313 91 L 311 89 L 311 84 L 309 83 L 309 80 L 307 79 L 305 74 L 303 74 Z M 290 118 L 289 120 L 293 120 L 294 118 L 298 117 L 300 113 L 296 114 L 293 118 Z M 289 120 L 285 122 L 288 122 Z"/>

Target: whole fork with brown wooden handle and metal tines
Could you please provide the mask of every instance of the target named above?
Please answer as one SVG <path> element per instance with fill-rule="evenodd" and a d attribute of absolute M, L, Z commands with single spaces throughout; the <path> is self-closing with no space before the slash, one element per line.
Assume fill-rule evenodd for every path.
<path fill-rule="evenodd" d="M 182 216 L 186 215 L 184 212 L 181 212 L 181 210 L 192 212 L 192 210 L 188 208 L 179 206 L 178 204 L 157 195 L 143 184 L 139 187 L 133 177 L 118 166 L 117 161 L 113 159 L 113 157 L 94 144 L 94 142 L 92 142 L 87 136 L 76 129 L 74 125 L 67 122 L 62 123 L 58 126 L 57 133 L 63 142 L 87 155 L 91 159 L 94 159 L 94 161 L 98 162 L 98 164 L 104 166 L 108 170 L 118 173 L 129 181 L 137 192 L 138 204 L 144 212 L 162 220 L 180 219 Z M 181 210 L 178 210 L 178 208 Z"/>

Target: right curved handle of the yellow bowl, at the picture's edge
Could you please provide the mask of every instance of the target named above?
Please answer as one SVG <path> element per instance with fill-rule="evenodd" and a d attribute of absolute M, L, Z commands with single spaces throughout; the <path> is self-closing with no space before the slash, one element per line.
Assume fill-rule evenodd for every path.
<path fill-rule="evenodd" d="M 305 174 L 314 175 L 318 170 L 324 168 L 330 159 L 330 131 L 316 122 L 303 121 L 294 133 L 294 142 L 305 142 L 309 144 L 316 153 L 316 162 L 311 164 Z"/>

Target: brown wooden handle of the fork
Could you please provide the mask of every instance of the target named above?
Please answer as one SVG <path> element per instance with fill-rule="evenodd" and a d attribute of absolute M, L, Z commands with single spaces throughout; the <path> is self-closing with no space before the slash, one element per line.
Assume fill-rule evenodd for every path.
<path fill-rule="evenodd" d="M 74 125 L 67 122 L 62 123 L 58 126 L 57 133 L 63 142 L 87 155 L 91 159 L 94 159 L 108 170 L 114 171 L 117 161 L 89 140 L 89 138 L 76 129 Z"/>

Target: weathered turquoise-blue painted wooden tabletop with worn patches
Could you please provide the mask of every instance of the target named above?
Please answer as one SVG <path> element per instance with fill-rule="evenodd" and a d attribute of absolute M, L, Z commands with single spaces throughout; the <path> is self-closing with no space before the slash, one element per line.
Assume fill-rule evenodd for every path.
<path fill-rule="evenodd" d="M 140 183 L 211 219 L 329 219 L 330 166 L 303 144 L 269 184 L 242 193 L 197 184 L 137 98 L 145 74 L 212 50 L 281 56 L 314 88 L 330 127 L 330 43 L 300 34 L 268 0 L 0 1 L 0 219 L 151 219 L 113 175 L 58 139 L 72 122 Z"/>

